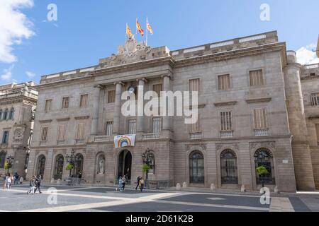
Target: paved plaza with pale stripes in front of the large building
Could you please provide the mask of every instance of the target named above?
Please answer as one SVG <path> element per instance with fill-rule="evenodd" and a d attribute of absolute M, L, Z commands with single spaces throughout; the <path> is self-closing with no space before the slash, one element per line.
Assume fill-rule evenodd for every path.
<path fill-rule="evenodd" d="M 42 186 L 42 194 L 29 194 L 28 185 L 0 190 L 0 211 L 21 212 L 304 212 L 319 211 L 319 192 L 271 194 L 261 204 L 257 193 L 236 191 L 194 192 L 113 187 Z"/>

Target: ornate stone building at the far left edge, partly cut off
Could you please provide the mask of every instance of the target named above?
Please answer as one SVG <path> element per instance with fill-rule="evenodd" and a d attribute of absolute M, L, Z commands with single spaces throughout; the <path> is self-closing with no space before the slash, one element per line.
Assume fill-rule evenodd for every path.
<path fill-rule="evenodd" d="M 38 99 L 35 83 L 0 85 L 0 174 L 5 174 L 5 162 L 11 159 L 9 173 L 26 178 L 33 114 Z"/>

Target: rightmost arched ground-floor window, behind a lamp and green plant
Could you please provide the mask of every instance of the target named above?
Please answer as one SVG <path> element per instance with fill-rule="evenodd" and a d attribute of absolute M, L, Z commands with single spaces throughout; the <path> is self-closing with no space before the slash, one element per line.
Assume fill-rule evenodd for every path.
<path fill-rule="evenodd" d="M 257 184 L 275 184 L 274 178 L 274 160 L 272 157 L 272 152 L 267 148 L 259 148 L 254 153 L 254 167 L 264 166 L 268 174 L 258 175 L 256 173 L 256 182 Z"/>

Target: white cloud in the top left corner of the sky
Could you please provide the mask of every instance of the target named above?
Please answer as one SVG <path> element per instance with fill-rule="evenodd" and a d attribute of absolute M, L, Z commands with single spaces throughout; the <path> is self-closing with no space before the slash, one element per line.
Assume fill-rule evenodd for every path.
<path fill-rule="evenodd" d="M 33 23 L 20 8 L 33 7 L 33 0 L 0 0 L 0 62 L 11 64 L 16 61 L 14 44 L 21 44 L 23 39 L 35 35 L 31 30 Z"/>

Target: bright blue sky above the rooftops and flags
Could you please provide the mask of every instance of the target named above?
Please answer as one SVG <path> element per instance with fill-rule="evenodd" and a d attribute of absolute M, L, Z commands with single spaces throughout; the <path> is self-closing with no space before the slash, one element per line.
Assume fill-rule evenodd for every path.
<path fill-rule="evenodd" d="M 259 18 L 264 3 L 269 21 Z M 57 5 L 57 21 L 47 21 L 48 4 Z M 96 65 L 123 44 L 125 23 L 135 32 L 138 17 L 145 29 L 146 16 L 152 47 L 174 50 L 278 30 L 287 49 L 318 60 L 310 51 L 319 35 L 318 0 L 0 0 L 0 14 L 1 8 L 9 16 L 0 15 L 0 84 L 38 83 L 45 74 Z M 10 13 L 24 17 L 14 21 Z"/>

